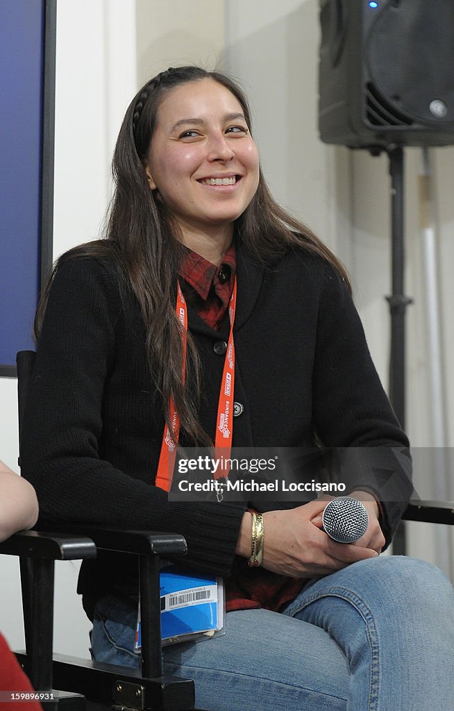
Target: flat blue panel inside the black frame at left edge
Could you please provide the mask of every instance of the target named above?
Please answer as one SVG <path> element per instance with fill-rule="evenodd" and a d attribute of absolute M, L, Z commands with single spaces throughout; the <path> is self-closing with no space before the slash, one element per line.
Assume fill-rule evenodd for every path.
<path fill-rule="evenodd" d="M 44 0 L 0 1 L 0 374 L 33 347 L 40 279 Z"/>

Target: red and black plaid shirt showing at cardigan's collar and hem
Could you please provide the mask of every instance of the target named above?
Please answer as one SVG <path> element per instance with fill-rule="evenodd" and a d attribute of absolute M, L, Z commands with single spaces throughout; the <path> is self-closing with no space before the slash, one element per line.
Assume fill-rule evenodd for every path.
<path fill-rule="evenodd" d="M 189 251 L 180 269 L 180 277 L 183 277 L 180 286 L 185 299 L 212 328 L 219 328 L 225 316 L 236 268 L 237 251 L 232 244 L 219 267 Z M 305 579 L 278 575 L 265 568 L 249 567 L 245 558 L 238 557 L 232 577 L 226 584 L 227 612 L 252 607 L 281 610 L 296 597 L 306 582 Z"/>

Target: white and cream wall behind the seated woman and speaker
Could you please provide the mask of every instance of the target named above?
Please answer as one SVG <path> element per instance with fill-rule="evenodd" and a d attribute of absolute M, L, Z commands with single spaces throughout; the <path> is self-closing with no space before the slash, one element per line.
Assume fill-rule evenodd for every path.
<path fill-rule="evenodd" d="M 55 256 L 97 236 L 110 195 L 109 161 L 126 105 L 171 64 L 221 65 L 239 77 L 274 196 L 328 242 L 350 269 L 374 360 L 387 383 L 389 177 L 384 156 L 326 146 L 317 132 L 317 0 L 59 0 L 55 136 Z M 454 149 L 434 152 L 448 443 L 454 446 Z M 418 228 L 419 151 L 406 157 L 409 309 L 408 429 L 431 444 L 423 255 Z M 0 379 L 0 453 L 17 469 L 16 381 Z M 430 479 L 430 473 L 423 473 Z M 426 485 L 425 485 L 426 486 Z M 430 491 L 430 481 L 427 484 Z M 451 496 L 454 491 L 451 489 Z M 410 552 L 437 558 L 433 528 L 411 526 Z M 15 562 L 0 560 L 0 629 L 21 646 Z M 87 655 L 89 626 L 75 596 L 77 567 L 58 566 L 58 651 Z M 70 624 L 68 627 L 68 620 Z"/>

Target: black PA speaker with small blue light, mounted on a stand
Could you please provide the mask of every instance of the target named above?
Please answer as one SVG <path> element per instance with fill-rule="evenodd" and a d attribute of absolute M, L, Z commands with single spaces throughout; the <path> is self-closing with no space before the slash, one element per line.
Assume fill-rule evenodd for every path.
<path fill-rule="evenodd" d="M 454 0 L 320 0 L 320 23 L 323 141 L 454 144 Z"/>

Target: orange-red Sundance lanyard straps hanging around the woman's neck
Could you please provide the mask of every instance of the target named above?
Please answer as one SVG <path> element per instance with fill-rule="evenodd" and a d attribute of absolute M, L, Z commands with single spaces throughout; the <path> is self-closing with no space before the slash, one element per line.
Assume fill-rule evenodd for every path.
<path fill-rule="evenodd" d="M 224 370 L 222 371 L 222 381 L 220 387 L 219 401 L 217 403 L 215 451 L 222 449 L 226 459 L 229 459 L 232 451 L 232 415 L 233 415 L 233 393 L 235 380 L 235 346 L 233 340 L 233 324 L 235 320 L 235 310 L 237 307 L 237 279 L 235 277 L 232 296 L 229 302 L 230 333 L 225 354 Z M 185 297 L 178 284 L 176 300 L 176 314 L 183 324 L 183 363 L 182 380 L 185 382 L 186 376 L 186 345 L 188 343 L 188 306 Z M 175 409 L 172 396 L 169 399 L 169 412 L 173 434 L 166 423 L 164 427 L 163 441 L 161 444 L 161 454 L 159 455 L 158 471 L 156 474 L 156 486 L 170 491 L 173 479 L 173 468 L 176 458 L 176 444 L 180 436 L 180 417 Z M 221 470 L 221 471 L 220 471 Z M 228 471 L 222 471 L 222 466 L 217 469 L 217 476 L 227 476 Z"/>

